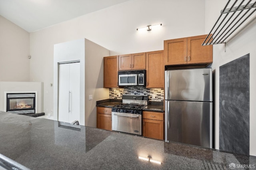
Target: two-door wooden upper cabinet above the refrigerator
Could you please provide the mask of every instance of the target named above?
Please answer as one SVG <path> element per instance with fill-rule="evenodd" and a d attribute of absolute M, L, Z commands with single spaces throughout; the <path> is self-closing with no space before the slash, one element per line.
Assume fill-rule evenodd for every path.
<path fill-rule="evenodd" d="M 212 63 L 212 45 L 203 46 L 207 35 L 164 41 L 164 64 Z"/>

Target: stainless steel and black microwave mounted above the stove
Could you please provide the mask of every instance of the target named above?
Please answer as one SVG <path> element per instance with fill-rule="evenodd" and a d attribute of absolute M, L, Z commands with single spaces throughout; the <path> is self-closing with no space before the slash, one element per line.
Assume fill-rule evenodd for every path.
<path fill-rule="evenodd" d="M 146 85 L 146 70 L 133 71 L 118 71 L 119 86 L 145 86 Z"/>

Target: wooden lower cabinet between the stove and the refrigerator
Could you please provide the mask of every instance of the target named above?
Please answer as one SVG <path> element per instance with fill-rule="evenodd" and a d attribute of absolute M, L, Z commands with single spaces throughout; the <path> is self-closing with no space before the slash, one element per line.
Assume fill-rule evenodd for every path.
<path fill-rule="evenodd" d="M 164 113 L 143 111 L 142 136 L 164 140 Z"/>

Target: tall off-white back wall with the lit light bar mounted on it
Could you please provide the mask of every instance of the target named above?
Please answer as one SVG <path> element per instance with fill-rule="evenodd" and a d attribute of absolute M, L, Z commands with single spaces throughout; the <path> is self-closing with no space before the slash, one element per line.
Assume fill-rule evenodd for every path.
<path fill-rule="evenodd" d="M 180 6 L 184 6 L 183 10 Z M 50 86 L 53 82 L 54 44 L 86 38 L 109 49 L 110 55 L 162 50 L 164 40 L 205 34 L 204 8 L 204 0 L 131 0 L 30 33 L 30 81 L 44 82 L 44 112 L 47 115 L 54 108 L 53 87 Z M 158 23 L 163 26 L 157 30 L 136 31 Z M 85 68 L 85 72 L 98 76 L 100 65 L 93 58 L 88 65 L 90 67 Z M 96 85 L 97 88 L 103 87 L 100 81 Z M 100 96 L 100 93 L 95 93 L 94 99 Z M 94 101 L 86 101 L 86 106 L 91 106 L 94 112 L 96 103 L 90 102 Z M 95 115 L 88 118 L 95 119 L 88 122 L 95 127 Z"/>

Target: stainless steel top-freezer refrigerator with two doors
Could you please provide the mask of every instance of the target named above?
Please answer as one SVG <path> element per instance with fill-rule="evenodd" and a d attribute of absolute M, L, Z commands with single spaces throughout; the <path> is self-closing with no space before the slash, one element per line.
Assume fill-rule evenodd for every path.
<path fill-rule="evenodd" d="M 212 148 L 212 69 L 165 71 L 165 140 Z"/>

